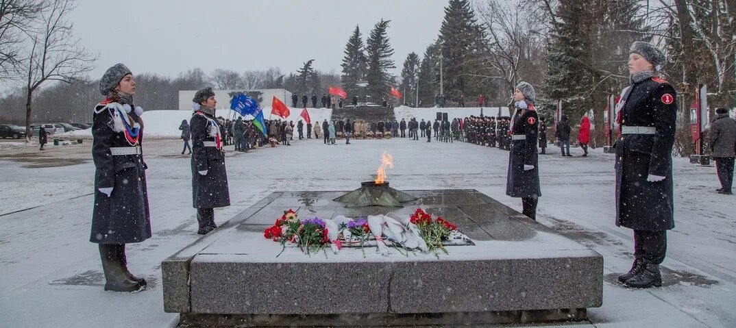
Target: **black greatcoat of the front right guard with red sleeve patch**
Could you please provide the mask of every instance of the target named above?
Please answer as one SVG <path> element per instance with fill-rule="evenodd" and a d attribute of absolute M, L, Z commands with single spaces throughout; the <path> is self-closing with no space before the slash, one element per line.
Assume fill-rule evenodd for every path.
<path fill-rule="evenodd" d="M 631 85 L 621 97 L 621 126 L 654 126 L 654 135 L 622 135 L 616 140 L 616 225 L 635 230 L 675 227 L 672 146 L 677 94 L 663 79 Z M 665 177 L 648 182 L 649 174 Z"/>

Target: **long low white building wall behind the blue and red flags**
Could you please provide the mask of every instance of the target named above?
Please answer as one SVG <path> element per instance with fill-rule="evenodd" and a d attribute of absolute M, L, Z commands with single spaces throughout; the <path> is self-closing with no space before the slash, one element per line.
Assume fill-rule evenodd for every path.
<path fill-rule="evenodd" d="M 245 93 L 258 101 L 263 107 L 271 107 L 274 96 L 283 101 L 284 104 L 291 104 L 291 92 L 286 89 L 257 89 L 257 90 L 213 90 L 215 99 L 217 99 L 217 110 L 230 109 L 230 99 L 237 93 Z M 179 90 L 179 110 L 191 110 L 191 99 L 194 98 L 197 90 Z M 301 100 L 301 99 L 300 99 Z"/>

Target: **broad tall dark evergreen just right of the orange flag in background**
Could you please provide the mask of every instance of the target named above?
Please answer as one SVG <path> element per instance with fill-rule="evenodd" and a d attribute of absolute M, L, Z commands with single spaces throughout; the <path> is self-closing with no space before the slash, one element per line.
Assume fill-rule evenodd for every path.
<path fill-rule="evenodd" d="M 480 68 L 485 35 L 467 0 L 450 0 L 439 29 L 442 45 L 443 92 L 447 99 L 477 95 L 481 82 L 470 76 Z"/>

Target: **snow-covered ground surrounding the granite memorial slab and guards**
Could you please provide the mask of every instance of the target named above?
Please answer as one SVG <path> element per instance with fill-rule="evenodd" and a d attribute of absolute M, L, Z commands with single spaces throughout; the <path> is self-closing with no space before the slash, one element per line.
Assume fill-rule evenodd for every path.
<path fill-rule="evenodd" d="M 216 221 L 275 190 L 353 190 L 375 173 L 383 151 L 394 157 L 388 171 L 394 188 L 475 188 L 521 210 L 519 199 L 505 195 L 507 151 L 401 138 L 351 143 L 294 140 L 293 146 L 229 152 L 233 204 L 216 210 Z M 10 195 L 0 199 L 0 327 L 177 324 L 176 314 L 163 312 L 160 262 L 199 238 L 189 158 L 179 154 L 178 140 L 149 140 L 145 151 L 154 232 L 128 246 L 128 259 L 150 288 L 122 294 L 102 290 L 99 253 L 88 241 L 94 168 L 79 161 L 89 160 L 90 143 L 49 146 L 40 155 L 32 147 L 0 148 L 0 188 Z M 571 326 L 736 327 L 736 198 L 715 193 L 715 168 L 674 161 L 677 227 L 668 234 L 665 286 L 629 290 L 615 282 L 631 265 L 633 245 L 631 231 L 613 224 L 612 155 L 548 152 L 539 157 L 539 221 L 604 256 L 603 307 Z"/>

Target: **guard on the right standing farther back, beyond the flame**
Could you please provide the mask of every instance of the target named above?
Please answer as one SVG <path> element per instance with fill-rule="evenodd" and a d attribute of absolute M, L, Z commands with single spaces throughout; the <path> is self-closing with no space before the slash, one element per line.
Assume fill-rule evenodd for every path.
<path fill-rule="evenodd" d="M 522 213 L 537 219 L 537 202 L 542 196 L 539 188 L 539 158 L 537 157 L 537 120 L 534 110 L 534 88 L 520 82 L 514 92 L 514 107 L 509 152 L 509 174 L 506 177 L 506 195 L 521 198 Z"/>

